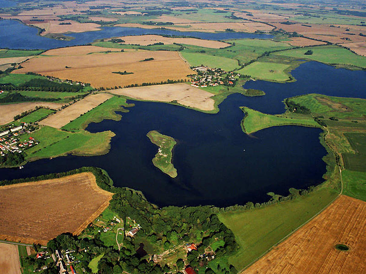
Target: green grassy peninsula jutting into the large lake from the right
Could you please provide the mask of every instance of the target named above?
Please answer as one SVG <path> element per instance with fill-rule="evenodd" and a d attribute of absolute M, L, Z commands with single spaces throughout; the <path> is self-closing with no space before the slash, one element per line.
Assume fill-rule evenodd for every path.
<path fill-rule="evenodd" d="M 244 113 L 246 113 L 246 116 L 243 118 L 241 125 L 243 131 L 247 134 L 257 132 L 261 129 L 270 128 L 271 126 L 319 126 L 319 124 L 315 122 L 310 115 L 294 113 L 271 115 L 261 113 L 248 107 L 241 107 L 241 109 Z"/>

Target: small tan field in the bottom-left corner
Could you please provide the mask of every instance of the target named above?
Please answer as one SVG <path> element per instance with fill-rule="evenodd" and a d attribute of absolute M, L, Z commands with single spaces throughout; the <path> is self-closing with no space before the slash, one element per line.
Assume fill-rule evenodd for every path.
<path fill-rule="evenodd" d="M 18 246 L 0 243 L 0 273 L 21 274 Z"/>

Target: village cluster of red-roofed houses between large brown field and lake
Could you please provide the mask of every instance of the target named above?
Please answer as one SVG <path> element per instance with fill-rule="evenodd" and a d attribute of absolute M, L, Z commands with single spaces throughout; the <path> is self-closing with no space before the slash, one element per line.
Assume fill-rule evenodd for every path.
<path fill-rule="evenodd" d="M 197 66 L 192 68 L 198 74 L 190 75 L 191 86 L 205 88 L 208 86 L 217 87 L 219 85 L 234 86 L 239 73 L 226 72 L 220 68 L 209 68 L 208 66 Z"/>

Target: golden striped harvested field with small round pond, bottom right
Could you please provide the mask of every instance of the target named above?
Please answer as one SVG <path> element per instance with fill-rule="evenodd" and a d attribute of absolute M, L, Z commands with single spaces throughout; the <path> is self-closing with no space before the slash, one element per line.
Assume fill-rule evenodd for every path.
<path fill-rule="evenodd" d="M 365 231 L 366 202 L 341 195 L 242 273 L 366 273 Z"/>

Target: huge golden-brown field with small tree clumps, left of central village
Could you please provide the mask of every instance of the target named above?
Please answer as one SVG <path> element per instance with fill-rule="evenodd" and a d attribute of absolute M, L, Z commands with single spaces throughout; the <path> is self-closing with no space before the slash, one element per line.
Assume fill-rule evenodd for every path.
<path fill-rule="evenodd" d="M 108 52 L 107 51 L 111 51 Z M 44 56 L 47 55 L 47 56 Z M 152 61 L 142 62 L 147 58 Z M 115 87 L 188 79 L 195 72 L 179 57 L 178 52 L 110 49 L 97 46 L 76 46 L 48 50 L 22 63 L 13 73 L 36 72 L 90 83 L 93 87 Z M 66 68 L 67 67 L 67 68 Z M 132 72 L 120 75 L 113 72 Z"/>

